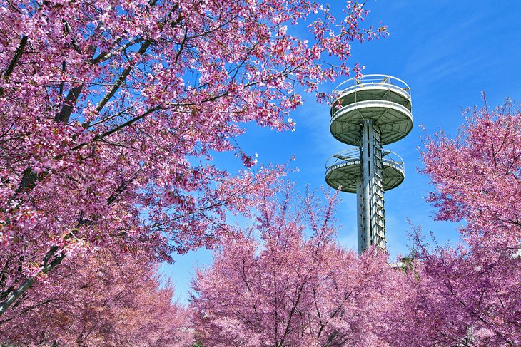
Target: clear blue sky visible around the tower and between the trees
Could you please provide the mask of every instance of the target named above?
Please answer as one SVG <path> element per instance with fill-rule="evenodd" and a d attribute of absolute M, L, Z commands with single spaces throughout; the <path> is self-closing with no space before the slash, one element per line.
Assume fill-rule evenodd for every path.
<path fill-rule="evenodd" d="M 329 3 L 340 18 L 345 2 Z M 390 36 L 353 43 L 350 62 L 360 62 L 366 74 L 403 79 L 413 97 L 413 131 L 385 146 L 405 161 L 405 181 L 385 192 L 388 250 L 392 256 L 407 254 L 408 219 L 432 231 L 440 242 L 454 243 L 459 237 L 457 224 L 434 222 L 434 209 L 423 198 L 432 186 L 418 173 L 421 138 L 440 129 L 457 134 L 464 122 L 461 111 L 481 106 L 482 91 L 492 106 L 505 97 L 521 101 L 521 1 L 369 0 L 366 6 L 371 13 L 365 23 L 378 25 L 381 20 Z M 323 85 L 321 90 L 329 92 L 338 83 Z M 291 115 L 297 123 L 295 132 L 248 126 L 248 133 L 238 138 L 243 150 L 258 153 L 259 162 L 287 162 L 295 155 L 292 167 L 299 171 L 290 179 L 300 190 L 306 184 L 325 185 L 325 160 L 347 147 L 330 135 L 328 106 L 315 103 L 313 95 L 303 96 L 304 105 Z M 230 165 L 236 167 L 236 163 Z M 340 197 L 338 241 L 356 249 L 355 195 Z M 179 299 L 186 302 L 194 266 L 211 264 L 211 252 L 200 249 L 175 259 L 176 264 L 163 266 L 162 271 L 176 284 Z"/>

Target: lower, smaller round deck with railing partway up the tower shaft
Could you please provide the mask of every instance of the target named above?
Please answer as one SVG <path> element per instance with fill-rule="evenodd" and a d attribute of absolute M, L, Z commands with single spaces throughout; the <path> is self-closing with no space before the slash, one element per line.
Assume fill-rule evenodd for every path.
<path fill-rule="evenodd" d="M 382 150 L 383 190 L 398 187 L 405 178 L 403 160 L 389 150 Z M 362 177 L 360 150 L 352 149 L 339 152 L 330 157 L 325 165 L 325 182 L 342 192 L 356 193 L 357 181 Z"/>

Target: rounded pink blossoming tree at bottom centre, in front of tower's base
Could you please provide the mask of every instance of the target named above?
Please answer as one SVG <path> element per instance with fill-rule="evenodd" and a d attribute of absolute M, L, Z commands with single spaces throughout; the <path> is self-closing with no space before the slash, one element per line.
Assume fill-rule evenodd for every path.
<path fill-rule="evenodd" d="M 334 241 L 333 197 L 293 210 L 289 194 L 198 269 L 192 299 L 203 346 L 384 346 L 380 320 L 408 276 L 383 252 L 360 258 Z M 309 238 L 304 221 L 308 221 Z"/>

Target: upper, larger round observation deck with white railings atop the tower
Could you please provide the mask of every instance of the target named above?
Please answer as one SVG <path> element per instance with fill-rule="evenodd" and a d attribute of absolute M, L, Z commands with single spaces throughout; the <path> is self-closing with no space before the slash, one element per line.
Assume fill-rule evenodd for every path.
<path fill-rule="evenodd" d="M 370 119 L 380 128 L 381 144 L 404 138 L 413 128 L 410 88 L 400 78 L 365 75 L 333 90 L 330 130 L 348 145 L 360 145 L 360 123 Z"/>

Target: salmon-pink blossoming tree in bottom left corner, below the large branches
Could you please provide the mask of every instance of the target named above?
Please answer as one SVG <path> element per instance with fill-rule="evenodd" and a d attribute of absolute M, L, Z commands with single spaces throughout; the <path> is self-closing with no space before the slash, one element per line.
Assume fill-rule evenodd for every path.
<path fill-rule="evenodd" d="M 0 320 L 0 341 L 41 346 L 190 346 L 187 309 L 157 264 L 96 252 L 34 285 Z M 143 259 L 143 257 L 141 257 Z"/>

